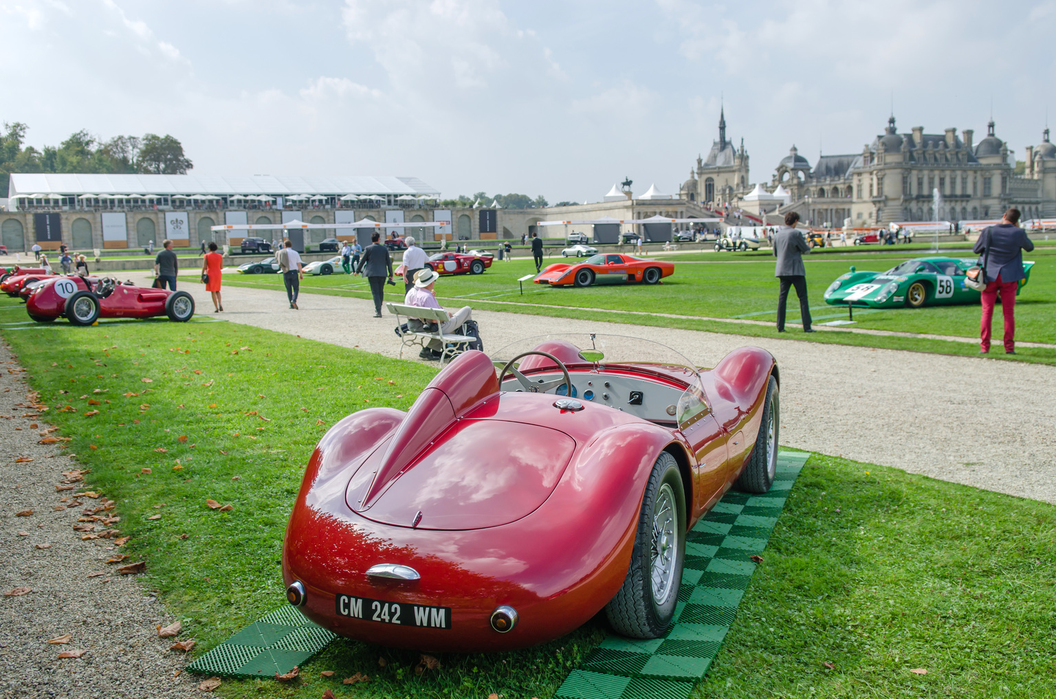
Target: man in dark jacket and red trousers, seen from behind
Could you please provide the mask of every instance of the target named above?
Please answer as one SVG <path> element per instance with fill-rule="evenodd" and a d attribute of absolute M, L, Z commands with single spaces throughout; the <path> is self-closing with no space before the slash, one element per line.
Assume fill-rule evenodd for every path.
<path fill-rule="evenodd" d="M 994 302 L 1001 292 L 1004 315 L 1004 353 L 1016 354 L 1016 291 L 1023 273 L 1023 250 L 1030 252 L 1034 243 L 1019 227 L 1019 209 L 1004 212 L 1001 223 L 983 228 L 974 251 L 984 258 L 986 289 L 982 291 L 983 314 L 979 323 L 979 354 L 989 352 L 991 326 L 994 323 Z M 985 252 L 985 254 L 984 254 Z"/>

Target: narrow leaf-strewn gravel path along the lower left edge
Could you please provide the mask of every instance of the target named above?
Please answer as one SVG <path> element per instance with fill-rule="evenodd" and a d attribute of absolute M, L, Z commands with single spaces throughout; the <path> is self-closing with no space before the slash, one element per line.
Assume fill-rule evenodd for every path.
<path fill-rule="evenodd" d="M 32 589 L 0 597 L 0 697 L 201 696 L 193 678 L 174 677 L 184 666 L 181 654 L 169 650 L 177 639 L 157 638 L 155 624 L 175 620 L 136 575 L 116 571 L 136 559 L 108 564 L 121 551 L 115 540 L 82 541 L 86 534 L 73 530 L 86 508 L 107 499 L 81 496 L 71 507 L 84 484 L 56 489 L 67 487 L 62 472 L 78 465 L 56 445 L 37 443 L 49 428 L 46 413 L 23 417 L 37 411 L 23 404 L 31 403 L 29 389 L 3 345 L 0 372 L 0 593 Z M 32 460 L 16 461 L 25 457 Z M 26 510 L 33 513 L 17 516 Z M 110 513 L 120 511 L 118 503 Z M 67 634 L 69 643 L 48 643 Z M 68 650 L 86 653 L 60 660 Z"/>

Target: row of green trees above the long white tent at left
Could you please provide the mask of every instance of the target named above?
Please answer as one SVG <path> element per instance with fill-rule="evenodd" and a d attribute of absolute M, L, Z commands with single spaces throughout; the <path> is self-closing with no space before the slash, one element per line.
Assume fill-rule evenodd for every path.
<path fill-rule="evenodd" d="M 102 140 L 86 130 L 58 146 L 37 150 L 25 146 L 29 127 L 20 121 L 3 125 L 0 133 L 0 196 L 7 196 L 12 172 L 82 172 L 185 174 L 193 167 L 180 140 L 168 134 L 114 136 Z"/>

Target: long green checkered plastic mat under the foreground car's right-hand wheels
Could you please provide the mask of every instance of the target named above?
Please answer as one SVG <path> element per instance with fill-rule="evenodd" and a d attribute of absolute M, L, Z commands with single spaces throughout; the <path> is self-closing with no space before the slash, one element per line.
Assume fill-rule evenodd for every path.
<path fill-rule="evenodd" d="M 686 536 L 675 622 L 664 638 L 609 636 L 554 699 L 684 699 L 722 645 L 807 452 L 779 452 L 770 492 L 728 492 Z"/>

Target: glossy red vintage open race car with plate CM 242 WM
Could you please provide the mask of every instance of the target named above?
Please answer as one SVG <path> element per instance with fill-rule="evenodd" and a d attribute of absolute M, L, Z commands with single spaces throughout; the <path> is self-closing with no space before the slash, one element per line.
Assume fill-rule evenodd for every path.
<path fill-rule="evenodd" d="M 602 609 L 659 638 L 689 529 L 734 483 L 774 479 L 774 358 L 741 347 L 700 371 L 593 335 L 495 356 L 467 352 L 408 413 L 361 410 L 323 436 L 286 528 L 287 599 L 341 636 L 421 650 L 529 646 Z"/>

